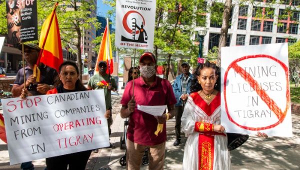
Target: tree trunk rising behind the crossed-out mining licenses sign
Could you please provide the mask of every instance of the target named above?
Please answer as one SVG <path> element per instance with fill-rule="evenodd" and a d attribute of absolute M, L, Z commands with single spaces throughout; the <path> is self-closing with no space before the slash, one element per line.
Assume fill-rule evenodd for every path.
<path fill-rule="evenodd" d="M 224 5 L 223 12 L 223 21 L 220 32 L 219 46 L 218 46 L 218 57 L 217 57 L 217 65 L 221 64 L 221 47 L 226 45 L 228 26 L 229 26 L 229 17 L 230 17 L 230 9 L 231 9 L 232 0 L 226 0 Z"/>

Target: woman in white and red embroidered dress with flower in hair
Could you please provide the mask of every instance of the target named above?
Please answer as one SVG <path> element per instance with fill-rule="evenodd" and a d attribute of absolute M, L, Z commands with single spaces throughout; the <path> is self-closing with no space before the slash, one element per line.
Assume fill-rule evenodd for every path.
<path fill-rule="evenodd" d="M 182 169 L 231 169 L 225 128 L 220 125 L 219 68 L 199 64 L 190 86 L 190 96 L 181 117 L 188 135 Z"/>

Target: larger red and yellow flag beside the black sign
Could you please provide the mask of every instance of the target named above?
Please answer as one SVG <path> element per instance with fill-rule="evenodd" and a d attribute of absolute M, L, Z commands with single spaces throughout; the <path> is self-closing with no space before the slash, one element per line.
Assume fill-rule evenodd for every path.
<path fill-rule="evenodd" d="M 42 62 L 55 68 L 58 72 L 59 65 L 63 62 L 63 56 L 55 11 L 56 6 L 57 3 L 55 4 L 53 11 L 42 24 L 38 43 L 41 48 L 41 53 L 39 54 L 37 62 Z"/>

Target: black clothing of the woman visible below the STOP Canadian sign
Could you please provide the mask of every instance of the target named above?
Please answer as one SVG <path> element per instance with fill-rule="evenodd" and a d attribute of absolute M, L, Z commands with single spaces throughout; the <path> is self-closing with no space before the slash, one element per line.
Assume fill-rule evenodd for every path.
<path fill-rule="evenodd" d="M 79 151 L 76 153 L 64 154 L 60 156 L 47 157 L 47 170 L 84 170 L 91 150 Z"/>

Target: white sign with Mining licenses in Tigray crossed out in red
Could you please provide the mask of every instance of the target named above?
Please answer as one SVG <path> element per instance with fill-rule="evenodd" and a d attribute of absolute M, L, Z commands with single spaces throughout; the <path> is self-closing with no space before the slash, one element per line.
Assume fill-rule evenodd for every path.
<path fill-rule="evenodd" d="M 226 132 L 292 136 L 287 43 L 223 47 L 221 124 Z"/>

